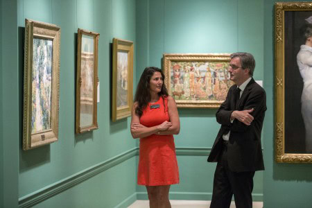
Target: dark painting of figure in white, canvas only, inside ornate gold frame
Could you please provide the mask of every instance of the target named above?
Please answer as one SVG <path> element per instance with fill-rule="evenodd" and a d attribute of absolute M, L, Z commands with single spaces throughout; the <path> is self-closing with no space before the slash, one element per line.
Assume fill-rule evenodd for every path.
<path fill-rule="evenodd" d="M 285 11 L 285 153 L 312 154 L 312 12 Z"/>

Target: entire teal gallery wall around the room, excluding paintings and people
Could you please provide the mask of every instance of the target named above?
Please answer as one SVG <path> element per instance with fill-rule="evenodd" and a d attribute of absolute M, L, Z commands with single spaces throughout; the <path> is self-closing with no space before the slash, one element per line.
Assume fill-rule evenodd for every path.
<path fill-rule="evenodd" d="M 131 139 L 130 119 L 110 121 L 113 37 L 135 42 L 134 83 L 144 67 L 162 67 L 163 53 L 254 54 L 257 61 L 254 78 L 263 80 L 268 105 L 262 138 L 266 171 L 258 172 L 254 178 L 254 200 L 263 200 L 264 207 L 269 208 L 311 207 L 311 164 L 274 161 L 275 1 L 0 0 L 0 3 L 0 207 L 23 207 L 31 202 L 40 202 L 35 207 L 86 204 L 126 207 L 137 198 L 146 199 L 144 187 L 135 185 L 138 143 Z M 61 27 L 59 141 L 28 151 L 21 150 L 24 18 Z M 98 51 L 101 102 L 99 129 L 76 136 L 78 27 L 101 34 Z M 209 109 L 179 109 L 181 131 L 175 143 L 180 184 L 172 187 L 171 198 L 211 198 L 215 164 L 208 164 L 206 159 L 220 126 L 215 113 L 216 110 Z"/>

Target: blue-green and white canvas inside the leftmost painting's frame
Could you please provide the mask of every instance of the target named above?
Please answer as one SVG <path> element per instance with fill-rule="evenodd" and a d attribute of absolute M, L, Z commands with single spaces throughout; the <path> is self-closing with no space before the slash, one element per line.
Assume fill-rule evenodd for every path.
<path fill-rule="evenodd" d="M 32 134 L 51 129 L 52 43 L 33 39 Z"/>

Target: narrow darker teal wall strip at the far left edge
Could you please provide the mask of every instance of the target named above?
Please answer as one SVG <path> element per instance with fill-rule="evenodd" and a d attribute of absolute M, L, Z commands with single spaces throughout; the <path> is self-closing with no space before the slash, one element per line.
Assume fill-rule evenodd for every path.
<path fill-rule="evenodd" d="M 1 64 L 1 103 L 2 130 L 1 159 L 3 172 L 1 189 L 3 188 L 1 205 L 17 207 L 18 203 L 18 151 L 21 122 L 19 114 L 19 69 L 17 65 L 17 1 L 1 0 L 2 15 L 2 64 Z M 5 118 L 5 119 L 4 119 Z M 0 205 L 0 206 L 1 206 Z"/>

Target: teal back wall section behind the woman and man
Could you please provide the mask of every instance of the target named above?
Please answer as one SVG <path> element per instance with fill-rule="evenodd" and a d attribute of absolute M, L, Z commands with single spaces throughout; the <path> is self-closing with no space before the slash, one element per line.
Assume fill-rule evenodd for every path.
<path fill-rule="evenodd" d="M 263 80 L 263 1 L 139 0 L 137 44 L 137 80 L 144 67 L 162 67 L 163 53 L 237 51 L 254 55 L 254 78 Z M 207 155 L 220 128 L 216 110 L 179 109 L 179 114 L 175 145 L 180 184 L 171 187 L 171 199 L 210 200 L 216 164 L 208 164 Z M 145 187 L 137 191 L 138 198 L 147 198 Z M 262 200 L 261 171 L 254 177 L 253 196 Z"/>

